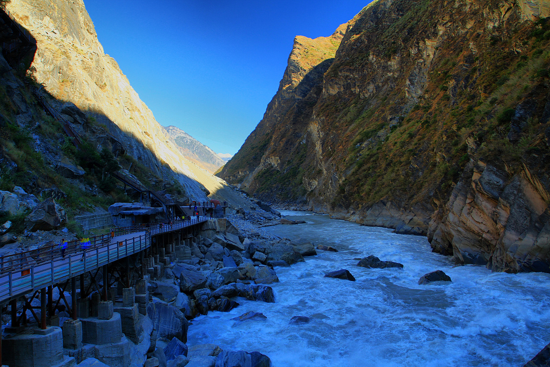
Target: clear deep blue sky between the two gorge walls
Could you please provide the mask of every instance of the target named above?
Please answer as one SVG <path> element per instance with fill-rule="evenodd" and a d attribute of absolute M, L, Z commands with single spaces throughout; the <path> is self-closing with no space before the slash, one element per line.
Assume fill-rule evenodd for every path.
<path fill-rule="evenodd" d="M 84 0 L 163 126 L 235 154 L 277 92 L 294 36 L 329 36 L 369 0 Z"/>

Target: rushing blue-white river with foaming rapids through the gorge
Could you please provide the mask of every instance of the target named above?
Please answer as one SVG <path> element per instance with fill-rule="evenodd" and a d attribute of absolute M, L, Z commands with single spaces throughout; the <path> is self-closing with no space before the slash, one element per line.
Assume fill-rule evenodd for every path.
<path fill-rule="evenodd" d="M 550 274 L 492 273 L 455 266 L 431 253 L 425 237 L 282 212 L 305 224 L 266 227 L 279 237 L 331 245 L 291 267 L 276 267 L 276 303 L 237 299 L 228 313 L 193 320 L 188 344 L 257 350 L 274 367 L 522 366 L 550 342 Z M 404 269 L 366 269 L 357 260 L 376 255 Z M 324 278 L 348 269 L 355 282 Z M 420 286 L 427 272 L 443 270 L 452 282 Z M 237 322 L 246 311 L 263 321 Z M 308 316 L 307 324 L 289 324 Z"/>

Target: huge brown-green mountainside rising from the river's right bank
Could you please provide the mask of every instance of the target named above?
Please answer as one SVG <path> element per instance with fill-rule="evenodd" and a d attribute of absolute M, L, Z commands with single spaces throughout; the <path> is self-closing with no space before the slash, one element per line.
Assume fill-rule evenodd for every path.
<path fill-rule="evenodd" d="M 549 15 L 545 0 L 378 0 L 298 36 L 218 176 L 426 235 L 459 264 L 550 272 Z"/>

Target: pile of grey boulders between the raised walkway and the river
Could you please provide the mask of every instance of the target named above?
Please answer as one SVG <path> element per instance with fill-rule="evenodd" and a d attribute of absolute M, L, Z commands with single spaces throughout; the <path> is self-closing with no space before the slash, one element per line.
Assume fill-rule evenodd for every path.
<path fill-rule="evenodd" d="M 220 367 L 271 365 L 268 357 L 257 352 L 222 351 L 215 344 L 205 344 L 202 352 L 193 352 L 197 346 L 188 348 L 185 344 L 187 320 L 209 311 L 232 310 L 239 306 L 238 297 L 275 302 L 273 289 L 268 285 L 279 281 L 274 268 L 289 266 L 304 261 L 304 256 L 316 254 L 311 243 L 297 244 L 268 234 L 259 227 L 265 225 L 265 215 L 259 217 L 264 219 L 259 220 L 250 213 L 248 217 L 230 214 L 226 231 L 219 231 L 213 224 L 216 221 L 211 221 L 200 235 L 177 246 L 176 260 L 164 264 L 160 276 L 149 281 L 152 302 L 147 306 L 147 315 L 157 332 L 156 353 L 162 354 L 158 352 L 160 348 L 164 352 L 151 358 L 162 361 L 164 357 L 168 367 L 187 363 Z M 279 217 L 274 217 L 277 219 L 269 221 L 278 223 Z M 248 322 L 249 317 L 240 317 L 242 322 Z M 183 353 L 186 348 L 189 354 Z"/>

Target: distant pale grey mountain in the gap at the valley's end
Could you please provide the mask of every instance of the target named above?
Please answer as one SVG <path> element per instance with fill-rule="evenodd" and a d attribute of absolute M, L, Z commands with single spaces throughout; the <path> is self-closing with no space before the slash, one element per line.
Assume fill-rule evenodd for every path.
<path fill-rule="evenodd" d="M 226 164 L 227 160 L 224 160 L 215 151 L 200 143 L 199 140 L 196 140 L 182 129 L 173 125 L 163 128 L 182 155 L 206 169 L 206 171 L 213 174 L 219 167 Z"/>

